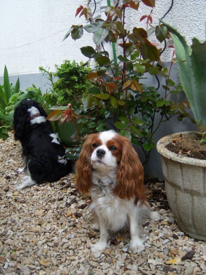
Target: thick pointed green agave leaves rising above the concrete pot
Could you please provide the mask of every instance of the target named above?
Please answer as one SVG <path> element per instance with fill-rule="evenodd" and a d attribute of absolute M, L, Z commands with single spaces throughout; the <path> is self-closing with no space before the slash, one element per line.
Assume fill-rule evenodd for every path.
<path fill-rule="evenodd" d="M 177 29 L 160 20 L 174 42 L 180 83 L 194 114 L 198 130 L 206 131 L 206 40 L 196 37 L 190 47 Z"/>

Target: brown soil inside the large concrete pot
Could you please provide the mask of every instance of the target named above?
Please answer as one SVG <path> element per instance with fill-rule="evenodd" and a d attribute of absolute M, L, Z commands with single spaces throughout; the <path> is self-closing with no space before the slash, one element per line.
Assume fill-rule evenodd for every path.
<path fill-rule="evenodd" d="M 187 137 L 180 135 L 178 138 L 172 139 L 172 142 L 165 147 L 169 151 L 185 157 L 206 160 L 206 144 L 200 143 L 195 134 Z"/>

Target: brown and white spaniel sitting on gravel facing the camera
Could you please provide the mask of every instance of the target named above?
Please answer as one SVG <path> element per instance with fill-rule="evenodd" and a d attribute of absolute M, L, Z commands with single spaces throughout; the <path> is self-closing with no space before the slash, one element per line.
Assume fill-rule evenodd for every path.
<path fill-rule="evenodd" d="M 130 248 L 144 250 L 139 223 L 142 218 L 159 220 L 144 192 L 144 171 L 128 138 L 110 130 L 86 137 L 76 163 L 79 191 L 90 193 L 91 210 L 98 217 L 100 239 L 92 251 L 107 247 L 108 231 L 130 226 Z"/>

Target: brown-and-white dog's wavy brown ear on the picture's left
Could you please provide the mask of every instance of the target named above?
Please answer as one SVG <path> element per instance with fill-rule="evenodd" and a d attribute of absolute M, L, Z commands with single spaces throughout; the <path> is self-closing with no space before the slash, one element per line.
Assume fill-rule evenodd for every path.
<path fill-rule="evenodd" d="M 80 192 L 89 193 L 92 185 L 91 175 L 91 141 L 93 135 L 86 136 L 86 141 L 82 147 L 79 159 L 76 162 L 76 185 Z"/>

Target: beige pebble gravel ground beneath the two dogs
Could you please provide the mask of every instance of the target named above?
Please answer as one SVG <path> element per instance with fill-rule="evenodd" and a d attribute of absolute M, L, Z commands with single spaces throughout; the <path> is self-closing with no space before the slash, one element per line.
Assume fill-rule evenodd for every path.
<path fill-rule="evenodd" d="M 181 232 L 170 210 L 155 199 L 150 202 L 161 220 L 143 221 L 145 251 L 130 251 L 124 229 L 110 235 L 104 252 L 91 253 L 99 232 L 88 211 L 90 198 L 78 192 L 74 175 L 16 190 L 25 176 L 18 168 L 21 145 L 10 133 L 0 139 L 0 274 L 206 274 L 205 242 Z"/>

